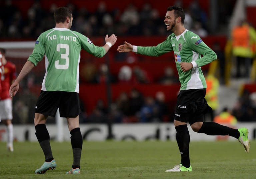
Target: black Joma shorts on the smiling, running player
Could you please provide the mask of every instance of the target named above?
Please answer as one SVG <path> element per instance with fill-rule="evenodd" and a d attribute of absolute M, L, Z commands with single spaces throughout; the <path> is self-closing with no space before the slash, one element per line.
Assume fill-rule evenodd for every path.
<path fill-rule="evenodd" d="M 180 90 L 174 119 L 181 122 L 203 122 L 207 111 L 212 110 L 205 100 L 206 89 Z"/>

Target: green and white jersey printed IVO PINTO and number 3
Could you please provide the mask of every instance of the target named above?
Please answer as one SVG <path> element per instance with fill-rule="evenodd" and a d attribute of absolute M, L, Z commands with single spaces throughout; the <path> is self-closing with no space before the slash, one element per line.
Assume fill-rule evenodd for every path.
<path fill-rule="evenodd" d="M 89 38 L 66 28 L 53 28 L 38 37 L 28 60 L 37 65 L 45 54 L 43 91 L 79 92 L 81 49 L 96 57 L 106 54 L 103 47 L 94 45 Z"/>

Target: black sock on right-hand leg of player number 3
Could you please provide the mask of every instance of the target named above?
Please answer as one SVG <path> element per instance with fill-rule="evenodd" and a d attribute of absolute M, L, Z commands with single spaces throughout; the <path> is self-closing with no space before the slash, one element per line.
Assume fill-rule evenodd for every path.
<path fill-rule="evenodd" d="M 71 146 L 73 149 L 73 165 L 72 168 L 80 168 L 81 151 L 83 138 L 80 128 L 75 128 L 70 131 Z"/>

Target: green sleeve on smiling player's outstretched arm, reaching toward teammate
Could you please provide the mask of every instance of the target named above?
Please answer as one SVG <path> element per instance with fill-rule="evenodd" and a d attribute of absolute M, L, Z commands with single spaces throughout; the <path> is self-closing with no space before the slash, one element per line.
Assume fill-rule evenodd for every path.
<path fill-rule="evenodd" d="M 156 45 L 156 46 L 138 46 L 137 53 L 148 56 L 160 56 L 164 53 L 170 52 L 173 50 L 171 45 L 171 35 L 167 39 Z"/>

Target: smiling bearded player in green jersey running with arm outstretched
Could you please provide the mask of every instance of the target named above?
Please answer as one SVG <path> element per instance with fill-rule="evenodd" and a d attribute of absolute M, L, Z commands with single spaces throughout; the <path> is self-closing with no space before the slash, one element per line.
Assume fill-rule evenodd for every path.
<path fill-rule="evenodd" d="M 174 51 L 175 63 L 181 83 L 177 97 L 174 126 L 176 140 L 181 154 L 181 163 L 166 172 L 192 171 L 189 159 L 189 132 L 187 122 L 193 131 L 207 135 L 230 135 L 237 138 L 249 152 L 248 129 L 232 129 L 213 122 L 204 122 L 204 114 L 211 110 L 205 100 L 206 82 L 201 66 L 217 58 L 200 37 L 185 29 L 185 14 L 182 8 L 167 8 L 164 23 L 167 31 L 173 33 L 156 46 L 135 46 L 125 42 L 117 48 L 119 52 L 134 51 L 149 56 L 160 56 Z M 201 55 L 203 57 L 201 58 Z"/>

